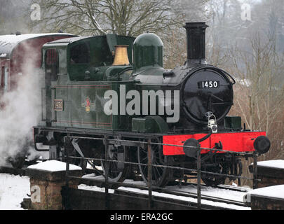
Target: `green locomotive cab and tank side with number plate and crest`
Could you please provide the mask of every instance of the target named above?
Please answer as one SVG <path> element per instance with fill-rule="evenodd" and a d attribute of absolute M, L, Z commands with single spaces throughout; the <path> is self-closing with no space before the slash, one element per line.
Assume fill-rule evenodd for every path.
<path fill-rule="evenodd" d="M 129 82 L 132 60 L 123 65 L 113 65 L 113 62 L 116 46 L 128 45 L 129 57 L 134 39 L 108 34 L 66 38 L 43 45 L 46 104 L 43 104 L 42 123 L 47 127 L 87 125 L 90 129 L 126 129 L 127 116 L 117 119 L 103 112 L 107 102 L 104 93 L 107 90 L 119 92 L 119 85 L 112 83 L 123 82 L 125 73 L 128 73 L 127 88 L 133 88 Z"/>

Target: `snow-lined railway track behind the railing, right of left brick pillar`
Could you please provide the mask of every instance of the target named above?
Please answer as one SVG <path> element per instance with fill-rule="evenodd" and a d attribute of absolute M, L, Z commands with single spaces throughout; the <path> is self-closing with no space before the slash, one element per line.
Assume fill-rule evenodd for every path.
<path fill-rule="evenodd" d="M 104 177 L 95 177 L 93 179 L 90 178 L 83 178 L 81 179 L 81 183 L 85 184 L 92 183 L 91 185 L 98 188 L 104 188 Z M 243 202 L 243 195 L 248 192 L 244 188 L 237 188 L 234 187 L 233 189 L 230 186 L 219 186 L 217 188 L 211 188 L 208 186 L 201 186 L 201 202 L 205 203 L 205 208 L 209 209 L 250 209 L 244 202 Z M 91 188 L 88 187 L 90 190 Z M 248 189 L 248 188 L 247 188 Z M 133 181 L 128 180 L 123 183 L 109 183 L 109 190 L 114 190 L 114 193 L 123 194 L 123 195 L 135 195 L 136 197 L 147 197 L 148 195 L 148 188 L 147 186 L 142 183 L 141 181 Z M 215 197 L 210 195 L 212 192 L 214 194 L 215 190 L 222 190 L 222 193 L 231 193 L 232 195 L 238 195 L 238 200 L 229 199 L 224 195 L 224 197 Z M 179 183 L 177 185 L 168 186 L 166 188 L 152 188 L 154 197 L 159 197 L 160 200 L 175 200 L 177 203 L 186 201 L 187 199 L 191 202 L 191 204 L 197 204 L 197 185 L 192 183 L 183 183 L 181 188 Z M 194 192 L 195 191 L 195 192 Z M 156 196 L 155 196 L 156 195 Z M 161 197 L 163 195 L 163 197 Z M 236 197 L 236 196 L 235 196 Z M 179 200 L 180 199 L 180 200 Z M 214 206 L 212 204 L 218 204 Z M 223 207 L 222 207 L 223 204 Z M 229 206 L 227 206 L 229 205 Z"/>

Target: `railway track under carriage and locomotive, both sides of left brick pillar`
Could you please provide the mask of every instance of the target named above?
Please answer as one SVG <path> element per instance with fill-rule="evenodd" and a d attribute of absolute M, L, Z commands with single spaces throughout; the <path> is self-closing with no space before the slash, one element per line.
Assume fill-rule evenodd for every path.
<path fill-rule="evenodd" d="M 23 169 L 15 169 L 13 167 L 0 167 L 0 173 L 13 174 L 25 176 L 27 167 Z M 75 177 L 74 177 L 75 178 Z M 76 178 L 78 179 L 78 178 Z M 81 186 L 88 186 L 88 190 L 93 187 L 103 188 L 104 177 L 96 176 L 95 178 L 83 178 L 79 179 Z M 196 183 L 182 183 L 176 182 L 171 186 L 166 188 L 152 188 L 154 200 L 172 202 L 175 204 L 187 204 L 191 207 L 196 207 L 197 205 L 197 184 Z M 109 183 L 109 190 L 112 190 L 116 195 L 130 195 L 133 197 L 148 197 L 149 191 L 147 186 L 142 183 L 142 181 L 127 180 L 123 183 Z M 212 196 L 218 190 L 223 190 L 224 194 L 233 194 L 241 195 L 248 192 L 248 188 L 239 188 L 234 186 L 217 186 L 216 188 L 211 188 L 205 185 L 201 186 L 201 203 L 202 209 L 241 209 L 246 210 L 250 209 L 245 203 L 241 200 L 233 200 L 226 195 L 224 197 Z"/>

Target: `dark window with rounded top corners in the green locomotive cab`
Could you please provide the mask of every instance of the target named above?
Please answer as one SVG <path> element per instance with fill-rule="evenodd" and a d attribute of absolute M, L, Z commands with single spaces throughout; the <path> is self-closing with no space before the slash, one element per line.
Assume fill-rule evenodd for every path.
<path fill-rule="evenodd" d="M 88 64 L 90 62 L 90 50 L 86 43 L 75 45 L 70 49 L 71 64 Z"/>

